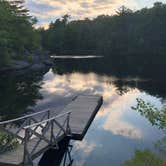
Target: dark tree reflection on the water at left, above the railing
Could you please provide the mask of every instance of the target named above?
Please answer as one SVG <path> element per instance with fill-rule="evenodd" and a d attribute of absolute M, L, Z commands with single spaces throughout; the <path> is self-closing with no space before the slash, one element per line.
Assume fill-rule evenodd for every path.
<path fill-rule="evenodd" d="M 12 119 L 36 105 L 42 99 L 39 89 L 46 71 L 1 75 L 0 77 L 0 116 Z"/>

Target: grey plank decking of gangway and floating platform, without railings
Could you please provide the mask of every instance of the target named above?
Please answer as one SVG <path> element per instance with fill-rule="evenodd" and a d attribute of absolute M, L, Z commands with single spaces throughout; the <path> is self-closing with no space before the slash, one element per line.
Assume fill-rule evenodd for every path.
<path fill-rule="evenodd" d="M 73 140 L 82 140 L 90 127 L 96 113 L 100 109 L 103 103 L 103 99 L 101 96 L 97 95 L 79 95 L 77 96 L 71 103 L 69 103 L 61 112 L 66 113 L 71 111 L 70 117 L 70 128 L 71 135 L 70 138 Z M 59 119 L 59 122 L 63 122 L 63 118 Z M 50 132 L 48 132 L 50 133 Z M 54 127 L 54 133 L 58 133 L 58 127 Z M 50 135 L 46 135 L 47 138 L 50 138 Z M 60 141 L 64 138 L 64 134 L 60 134 L 57 138 Z M 38 139 L 33 138 L 28 143 L 28 150 L 31 151 Z M 48 150 L 53 145 L 48 145 L 45 141 L 41 141 L 39 146 L 37 147 L 32 159 L 40 156 L 46 150 Z M 23 156 L 24 155 L 24 145 L 19 145 L 13 151 L 6 152 L 5 154 L 0 155 L 0 166 L 19 166 L 23 164 Z"/>

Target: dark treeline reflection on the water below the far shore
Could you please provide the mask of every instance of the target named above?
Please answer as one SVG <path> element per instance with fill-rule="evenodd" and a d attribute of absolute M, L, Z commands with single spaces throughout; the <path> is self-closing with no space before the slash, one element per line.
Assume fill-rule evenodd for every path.
<path fill-rule="evenodd" d="M 164 97 L 166 95 L 165 77 L 163 77 L 162 68 L 153 68 L 149 66 L 137 66 L 127 63 L 116 63 L 111 59 L 91 59 L 91 60 L 55 60 L 53 72 L 58 75 L 70 73 L 96 73 L 99 76 L 107 75 L 115 78 L 114 84 L 116 85 L 119 93 L 128 91 L 128 87 L 137 87 L 138 89 L 147 92 L 151 95 Z M 142 81 L 143 80 L 143 81 Z M 144 81 L 149 80 L 149 81 Z"/>

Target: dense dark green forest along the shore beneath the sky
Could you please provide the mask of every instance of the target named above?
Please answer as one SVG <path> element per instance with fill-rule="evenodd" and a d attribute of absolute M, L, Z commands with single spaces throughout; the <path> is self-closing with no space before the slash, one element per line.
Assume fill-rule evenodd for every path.
<path fill-rule="evenodd" d="M 22 0 L 0 0 L 0 65 L 30 58 L 34 50 L 48 50 L 57 55 L 104 55 L 112 65 L 130 66 L 129 70 L 139 66 L 141 72 L 148 71 L 148 65 L 163 70 L 165 18 L 166 5 L 156 2 L 138 11 L 122 6 L 112 16 L 94 19 L 71 20 L 64 15 L 47 30 L 35 29 L 37 19 L 29 15 Z"/>

